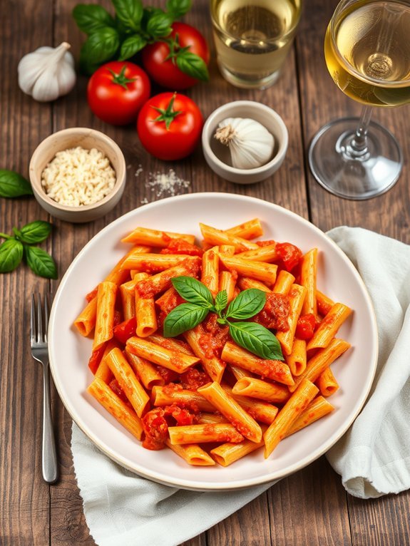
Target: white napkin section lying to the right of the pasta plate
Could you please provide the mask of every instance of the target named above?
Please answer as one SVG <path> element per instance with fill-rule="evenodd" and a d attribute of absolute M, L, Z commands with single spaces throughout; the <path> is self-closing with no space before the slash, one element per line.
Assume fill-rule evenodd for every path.
<path fill-rule="evenodd" d="M 357 267 L 379 329 L 369 398 L 327 459 L 356 497 L 400 493 L 410 488 L 410 247 L 359 227 L 327 235 Z"/>

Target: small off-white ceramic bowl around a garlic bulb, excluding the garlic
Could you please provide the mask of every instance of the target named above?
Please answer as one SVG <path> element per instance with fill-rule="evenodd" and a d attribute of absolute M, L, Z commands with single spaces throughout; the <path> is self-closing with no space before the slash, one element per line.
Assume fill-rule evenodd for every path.
<path fill-rule="evenodd" d="M 255 169 L 232 167 L 229 148 L 214 138 L 217 125 L 226 118 L 250 118 L 262 123 L 275 139 L 271 160 Z M 287 128 L 280 115 L 255 101 L 235 101 L 220 106 L 207 118 L 202 134 L 207 164 L 221 178 L 238 184 L 252 184 L 270 177 L 285 159 L 288 140 Z"/>

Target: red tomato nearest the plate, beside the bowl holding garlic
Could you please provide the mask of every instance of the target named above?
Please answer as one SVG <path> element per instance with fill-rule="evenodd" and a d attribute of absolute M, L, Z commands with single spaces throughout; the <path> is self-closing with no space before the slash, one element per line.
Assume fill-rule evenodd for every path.
<path fill-rule="evenodd" d="M 162 160 L 182 159 L 193 153 L 202 128 L 203 116 L 198 106 L 178 93 L 151 97 L 138 114 L 141 144 Z"/>

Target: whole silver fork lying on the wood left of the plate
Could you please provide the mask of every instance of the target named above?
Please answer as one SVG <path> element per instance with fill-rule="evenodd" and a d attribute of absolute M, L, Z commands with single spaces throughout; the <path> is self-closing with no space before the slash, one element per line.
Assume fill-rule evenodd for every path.
<path fill-rule="evenodd" d="M 31 354 L 41 362 L 43 369 L 43 445 L 42 469 L 47 483 L 54 483 L 58 478 L 56 441 L 51 421 L 50 374 L 48 369 L 47 328 L 50 303 L 48 295 L 44 296 L 44 311 L 39 293 L 31 294 L 30 344 Z M 44 315 L 44 319 L 43 319 Z"/>

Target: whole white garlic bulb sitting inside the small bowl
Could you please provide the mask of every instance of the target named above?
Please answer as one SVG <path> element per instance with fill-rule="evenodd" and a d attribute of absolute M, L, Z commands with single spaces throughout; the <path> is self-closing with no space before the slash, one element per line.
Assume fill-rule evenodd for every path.
<path fill-rule="evenodd" d="M 215 138 L 229 146 L 235 168 L 254 169 L 272 158 L 273 136 L 261 123 L 250 118 L 226 118 L 219 123 Z"/>

